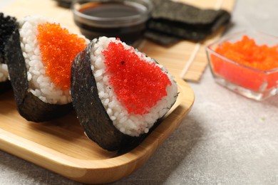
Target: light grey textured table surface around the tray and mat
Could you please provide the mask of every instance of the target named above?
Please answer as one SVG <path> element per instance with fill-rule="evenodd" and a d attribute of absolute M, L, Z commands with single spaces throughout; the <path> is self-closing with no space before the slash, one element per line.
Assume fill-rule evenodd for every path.
<path fill-rule="evenodd" d="M 0 8 L 10 1 L 0 1 Z M 278 36 L 277 0 L 238 0 L 232 27 Z M 195 104 L 138 171 L 113 184 L 278 184 L 278 96 L 249 100 L 205 70 Z M 0 184 L 78 184 L 0 151 Z"/>

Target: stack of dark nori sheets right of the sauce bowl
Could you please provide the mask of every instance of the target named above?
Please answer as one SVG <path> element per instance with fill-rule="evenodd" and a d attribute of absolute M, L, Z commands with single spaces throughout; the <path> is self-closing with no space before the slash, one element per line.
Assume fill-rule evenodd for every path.
<path fill-rule="evenodd" d="M 230 21 L 223 10 L 198 9 L 170 0 L 152 0 L 154 9 L 145 37 L 163 45 L 180 40 L 200 42 Z"/>

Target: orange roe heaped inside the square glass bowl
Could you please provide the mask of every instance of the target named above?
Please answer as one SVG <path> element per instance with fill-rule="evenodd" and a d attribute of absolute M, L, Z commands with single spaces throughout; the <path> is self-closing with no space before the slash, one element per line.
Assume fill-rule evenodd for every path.
<path fill-rule="evenodd" d="M 278 74 L 267 75 L 267 70 L 278 68 L 278 45 L 259 46 L 253 38 L 244 35 L 235 43 L 225 41 L 215 52 L 236 62 L 230 63 L 217 55 L 210 55 L 214 73 L 226 80 L 254 91 L 276 85 Z"/>

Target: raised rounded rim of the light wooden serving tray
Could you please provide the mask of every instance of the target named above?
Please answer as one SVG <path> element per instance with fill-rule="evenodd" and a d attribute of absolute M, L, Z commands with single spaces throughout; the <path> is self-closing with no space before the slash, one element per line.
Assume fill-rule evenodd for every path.
<path fill-rule="evenodd" d="M 194 93 L 184 80 L 177 78 L 176 81 L 181 90 L 186 92 L 185 98 L 182 98 L 180 105 L 138 147 L 126 154 L 105 160 L 75 159 L 2 129 L 0 129 L 0 149 L 74 181 L 88 184 L 118 181 L 140 168 L 177 129 L 182 118 L 190 112 L 194 103 Z M 169 122 L 172 122 L 172 127 L 167 126 Z M 41 155 L 43 153 L 47 155 Z"/>

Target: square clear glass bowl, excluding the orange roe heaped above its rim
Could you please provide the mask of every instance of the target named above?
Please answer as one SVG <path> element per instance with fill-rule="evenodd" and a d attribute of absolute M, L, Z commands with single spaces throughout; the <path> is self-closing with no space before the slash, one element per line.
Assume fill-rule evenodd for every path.
<path fill-rule="evenodd" d="M 216 83 L 223 85 L 225 88 L 254 100 L 264 100 L 276 95 L 278 93 L 278 68 L 259 70 L 237 63 L 216 52 L 216 48 L 221 47 L 226 41 L 235 43 L 241 41 L 242 36 L 252 38 L 257 46 L 272 47 L 278 45 L 277 37 L 259 31 L 234 33 L 210 44 L 207 46 L 206 52 L 213 78 Z"/>

